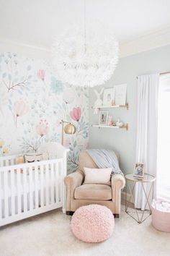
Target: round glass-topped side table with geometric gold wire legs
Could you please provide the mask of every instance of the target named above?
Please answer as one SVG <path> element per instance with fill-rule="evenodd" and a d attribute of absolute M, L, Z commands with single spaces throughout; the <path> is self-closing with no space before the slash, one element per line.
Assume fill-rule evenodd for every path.
<path fill-rule="evenodd" d="M 148 218 L 151 215 L 151 205 L 149 202 L 149 197 L 152 195 L 152 199 L 153 199 L 153 186 L 154 186 L 154 182 L 156 180 L 155 176 L 151 175 L 151 174 L 144 174 L 144 178 L 143 179 L 138 179 L 136 177 L 133 176 L 133 174 L 127 174 L 125 176 L 125 180 L 126 180 L 126 189 L 125 189 L 125 212 L 131 216 L 135 221 L 137 221 L 138 223 L 142 223 L 143 221 L 146 220 L 146 218 Z M 130 183 L 133 183 L 133 186 L 130 187 Z M 135 208 L 135 198 L 134 198 L 134 192 L 135 192 L 135 187 L 136 184 L 140 183 L 141 187 L 142 187 L 142 191 L 143 191 L 143 195 L 146 199 L 146 205 L 148 204 L 148 208 L 149 210 L 140 210 L 138 208 Z M 146 187 L 148 187 L 148 189 L 145 188 L 144 184 L 146 184 Z M 127 199 L 127 189 L 129 189 L 130 191 L 130 197 L 129 199 Z M 133 203 L 134 208 L 130 208 L 130 202 Z M 146 205 L 145 205 L 145 209 L 146 209 Z M 135 213 L 135 216 L 133 216 L 133 213 Z M 144 218 L 144 214 L 147 213 L 146 217 Z"/>

